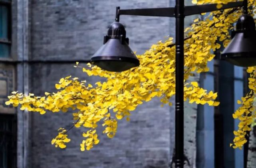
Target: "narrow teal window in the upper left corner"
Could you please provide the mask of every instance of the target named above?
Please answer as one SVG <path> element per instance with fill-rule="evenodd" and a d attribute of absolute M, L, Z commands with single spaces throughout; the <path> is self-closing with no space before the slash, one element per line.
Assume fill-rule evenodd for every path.
<path fill-rule="evenodd" d="M 0 57 L 10 56 L 11 5 L 10 0 L 0 0 Z"/>

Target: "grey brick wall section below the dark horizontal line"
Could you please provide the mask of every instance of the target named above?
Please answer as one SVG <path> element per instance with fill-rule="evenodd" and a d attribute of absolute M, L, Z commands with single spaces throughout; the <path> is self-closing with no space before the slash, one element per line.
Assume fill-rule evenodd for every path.
<path fill-rule="evenodd" d="M 43 72 L 41 79 L 32 78 L 33 93 L 41 95 L 44 91 L 54 91 L 54 83 L 63 74 L 84 76 L 88 82 L 98 81 L 97 78 L 85 77 L 79 74 L 80 69 L 70 73 L 69 65 L 51 65 L 32 67 L 32 76 Z M 46 82 L 47 81 L 47 82 Z M 56 136 L 59 127 L 69 128 L 72 125 L 71 113 L 51 112 L 46 115 L 33 113 L 32 118 L 32 167 L 38 168 L 141 168 L 156 167 L 167 168 L 170 159 L 170 111 L 169 107 L 160 107 L 159 100 L 155 99 L 145 103 L 134 111 L 131 121 L 119 121 L 118 131 L 113 139 L 99 133 L 100 143 L 93 149 L 80 151 L 83 128 L 73 128 L 69 132 L 71 142 L 65 150 L 56 149 L 50 144 Z M 99 126 L 99 132 L 102 132 Z"/>

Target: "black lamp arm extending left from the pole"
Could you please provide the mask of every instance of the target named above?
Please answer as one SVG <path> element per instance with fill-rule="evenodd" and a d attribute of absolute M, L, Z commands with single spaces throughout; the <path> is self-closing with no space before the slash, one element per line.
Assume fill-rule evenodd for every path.
<path fill-rule="evenodd" d="M 175 8 L 119 9 L 117 17 L 120 15 L 175 17 Z"/>

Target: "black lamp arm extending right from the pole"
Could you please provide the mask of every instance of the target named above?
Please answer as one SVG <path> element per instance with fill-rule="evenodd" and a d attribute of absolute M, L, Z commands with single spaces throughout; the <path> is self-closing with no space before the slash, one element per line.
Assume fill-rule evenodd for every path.
<path fill-rule="evenodd" d="M 223 4 L 221 8 L 217 8 L 217 4 L 206 4 L 206 5 L 194 5 L 185 6 L 185 16 L 190 16 L 194 14 L 201 14 L 206 12 L 212 12 L 217 10 L 224 10 L 229 8 L 237 8 L 244 6 L 244 2 L 229 2 L 228 4 Z"/>

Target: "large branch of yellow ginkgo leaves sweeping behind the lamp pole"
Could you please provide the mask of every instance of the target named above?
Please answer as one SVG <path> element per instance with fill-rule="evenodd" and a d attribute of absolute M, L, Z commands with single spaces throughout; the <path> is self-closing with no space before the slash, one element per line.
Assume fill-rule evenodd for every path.
<path fill-rule="evenodd" d="M 184 100 L 190 103 L 208 104 L 217 106 L 214 101 L 217 93 L 207 92 L 198 86 L 197 82 L 187 82 L 194 72 L 201 73 L 209 70 L 207 62 L 214 58 L 212 50 L 220 48 L 218 39 L 229 42 L 228 31 L 236 22 L 241 10 L 224 10 L 212 12 L 206 20 L 195 20 L 187 28 L 185 40 L 185 86 Z M 210 19 L 212 17 L 212 19 Z M 73 119 L 77 120 L 75 127 L 88 129 L 83 136 L 86 138 L 80 144 L 81 150 L 89 150 L 94 144 L 99 143 L 96 133 L 97 123 L 103 121 L 109 138 L 113 138 L 117 131 L 117 121 L 126 118 L 129 121 L 131 111 L 143 102 L 159 97 L 163 104 L 175 95 L 175 44 L 173 38 L 165 42 L 158 42 L 143 55 L 137 55 L 141 65 L 121 73 L 108 72 L 97 66 L 87 64 L 83 72 L 87 75 L 105 77 L 106 81 L 97 82 L 95 85 L 78 78 L 66 77 L 56 84 L 57 93 L 45 93 L 45 97 L 35 97 L 30 94 L 12 93 L 6 104 L 21 105 L 21 109 L 37 111 L 41 114 L 46 110 L 52 112 L 66 112 L 69 108 L 73 111 Z M 75 67 L 79 67 L 76 63 Z M 59 134 L 64 134 L 63 131 Z M 60 137 L 56 137 L 60 140 Z M 66 141 L 66 140 L 65 140 Z M 58 141 L 59 142 L 59 141 Z M 54 141 L 55 143 L 55 141 Z M 62 141 L 64 143 L 64 141 Z M 56 144 L 56 143 L 55 143 Z M 60 145 L 58 145 L 60 146 Z M 60 147 L 64 147 L 63 145 Z"/>

